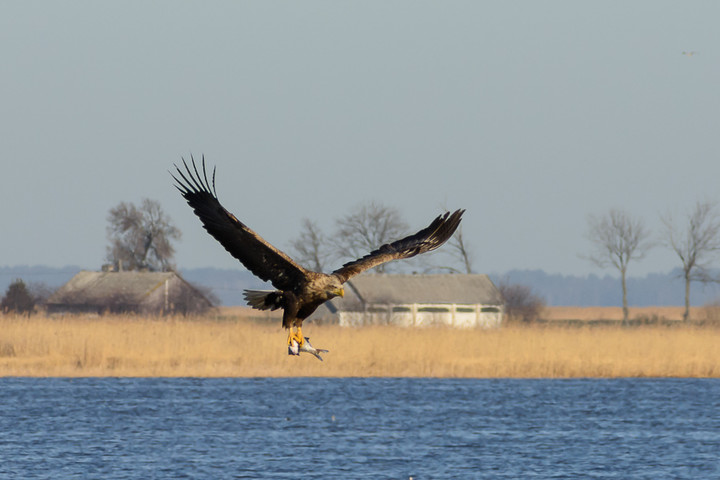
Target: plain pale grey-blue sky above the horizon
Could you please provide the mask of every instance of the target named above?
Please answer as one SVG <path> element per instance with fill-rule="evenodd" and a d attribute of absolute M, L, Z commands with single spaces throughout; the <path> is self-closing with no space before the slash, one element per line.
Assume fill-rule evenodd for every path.
<path fill-rule="evenodd" d="M 220 200 L 282 249 L 375 200 L 419 229 L 466 208 L 479 272 L 614 273 L 579 258 L 588 214 L 660 230 L 720 200 L 720 3 L 0 4 L 0 265 L 105 257 L 143 197 L 181 268 L 234 267 L 172 186 L 217 165 Z M 683 52 L 694 51 L 689 56 Z M 667 272 L 656 249 L 631 275 Z"/>

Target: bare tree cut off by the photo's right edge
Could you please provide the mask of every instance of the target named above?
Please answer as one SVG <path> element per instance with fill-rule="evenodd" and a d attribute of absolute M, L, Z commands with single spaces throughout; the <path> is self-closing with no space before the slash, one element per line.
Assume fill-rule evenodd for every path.
<path fill-rule="evenodd" d="M 717 281 L 710 273 L 710 263 L 720 251 L 720 213 L 713 202 L 698 202 L 688 215 L 688 222 L 678 227 L 669 214 L 663 216 L 664 243 L 682 262 L 685 279 L 685 312 L 683 321 L 690 319 L 690 283 Z"/>

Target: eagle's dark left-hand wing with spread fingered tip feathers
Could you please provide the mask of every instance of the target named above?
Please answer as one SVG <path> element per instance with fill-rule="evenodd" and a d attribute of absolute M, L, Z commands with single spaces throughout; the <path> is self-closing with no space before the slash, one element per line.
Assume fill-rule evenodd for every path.
<path fill-rule="evenodd" d="M 307 270 L 292 258 L 266 242 L 252 231 L 235 215 L 220 205 L 215 192 L 215 169 L 212 175 L 212 188 L 205 170 L 205 157 L 202 159 L 202 175 L 192 161 L 192 170 L 183 159 L 185 171 L 175 165 L 179 178 L 172 177 L 175 187 L 188 205 L 195 211 L 210 235 L 225 247 L 230 255 L 242 262 L 245 267 L 264 281 L 270 281 L 279 290 L 292 289 L 305 280 Z"/>

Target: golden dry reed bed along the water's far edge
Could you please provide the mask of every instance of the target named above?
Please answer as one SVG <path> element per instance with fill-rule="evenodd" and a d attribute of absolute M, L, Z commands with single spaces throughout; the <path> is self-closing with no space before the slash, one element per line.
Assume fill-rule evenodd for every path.
<path fill-rule="evenodd" d="M 286 355 L 279 322 L 0 317 L 0 376 L 720 377 L 720 329 L 307 325 L 325 362 Z"/>

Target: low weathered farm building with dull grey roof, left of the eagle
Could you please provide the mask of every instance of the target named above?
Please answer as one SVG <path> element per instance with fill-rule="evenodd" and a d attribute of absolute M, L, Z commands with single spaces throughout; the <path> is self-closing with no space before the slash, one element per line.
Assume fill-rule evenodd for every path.
<path fill-rule="evenodd" d="M 212 303 L 175 272 L 82 271 L 53 293 L 48 313 L 196 313 Z"/>

